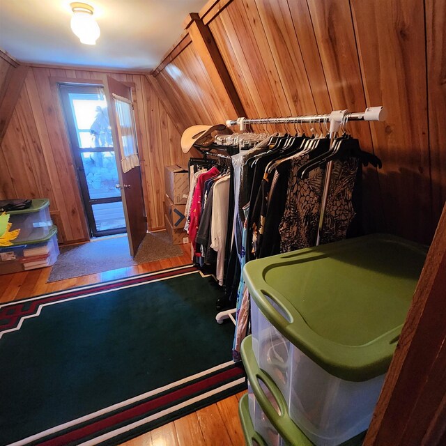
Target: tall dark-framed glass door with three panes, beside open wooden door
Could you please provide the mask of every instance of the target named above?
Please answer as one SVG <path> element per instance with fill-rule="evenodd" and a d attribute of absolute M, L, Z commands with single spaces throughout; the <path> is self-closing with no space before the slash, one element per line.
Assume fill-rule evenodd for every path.
<path fill-rule="evenodd" d="M 101 237 L 125 233 L 104 88 L 60 84 L 59 89 L 90 235 Z"/>

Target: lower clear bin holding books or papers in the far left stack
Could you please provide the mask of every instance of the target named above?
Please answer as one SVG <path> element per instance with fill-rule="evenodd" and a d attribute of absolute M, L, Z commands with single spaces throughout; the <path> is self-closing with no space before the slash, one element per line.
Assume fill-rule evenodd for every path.
<path fill-rule="evenodd" d="M 59 256 L 57 228 L 52 226 L 46 237 L 0 248 L 0 274 L 10 274 L 53 265 Z"/>

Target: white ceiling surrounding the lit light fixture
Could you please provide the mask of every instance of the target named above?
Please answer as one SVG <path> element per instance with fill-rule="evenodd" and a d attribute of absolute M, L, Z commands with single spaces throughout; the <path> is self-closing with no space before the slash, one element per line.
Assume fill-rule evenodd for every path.
<path fill-rule="evenodd" d="M 19 61 L 155 68 L 183 31 L 187 13 L 206 0 L 86 0 L 101 35 L 82 45 L 70 29 L 71 0 L 1 0 L 0 47 Z"/>

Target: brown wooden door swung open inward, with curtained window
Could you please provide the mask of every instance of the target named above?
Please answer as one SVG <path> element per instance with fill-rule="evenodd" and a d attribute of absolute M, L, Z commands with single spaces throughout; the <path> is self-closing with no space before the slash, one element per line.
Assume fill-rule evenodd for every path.
<path fill-rule="evenodd" d="M 116 79 L 109 76 L 107 76 L 106 88 L 110 104 L 109 118 L 114 140 L 114 151 L 116 153 L 116 162 L 118 164 L 119 185 L 116 186 L 121 188 L 122 192 L 130 254 L 135 256 L 138 247 L 147 232 L 146 208 L 144 206 L 144 196 L 141 184 L 141 168 L 136 166 L 132 167 L 129 171 L 123 171 L 121 165 L 121 160 L 123 158 L 123 134 L 121 132 L 121 123 L 119 123 L 118 114 L 116 112 L 117 97 L 125 98 L 132 102 L 132 91 L 129 86 L 122 82 L 118 82 Z M 134 145 L 137 146 L 137 132 L 134 123 L 132 105 L 131 116 L 132 134 L 126 134 L 125 137 L 132 137 L 134 139 Z"/>

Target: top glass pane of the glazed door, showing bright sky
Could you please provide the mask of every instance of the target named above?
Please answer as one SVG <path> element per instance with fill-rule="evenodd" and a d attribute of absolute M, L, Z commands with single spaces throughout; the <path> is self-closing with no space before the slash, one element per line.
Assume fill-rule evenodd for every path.
<path fill-rule="evenodd" d="M 103 93 L 68 93 L 80 148 L 113 147 Z"/>

